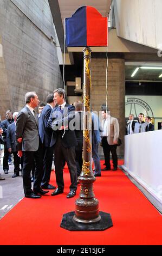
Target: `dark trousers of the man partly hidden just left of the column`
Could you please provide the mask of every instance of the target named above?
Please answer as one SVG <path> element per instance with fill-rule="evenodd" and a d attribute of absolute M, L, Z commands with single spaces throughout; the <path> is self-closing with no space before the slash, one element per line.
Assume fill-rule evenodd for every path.
<path fill-rule="evenodd" d="M 75 147 L 75 161 L 76 161 L 76 169 L 77 169 L 77 176 L 81 174 L 82 170 L 82 164 L 83 164 L 83 156 L 82 156 L 82 151 L 83 151 L 83 140 L 78 140 L 77 141 L 77 146 Z"/>

